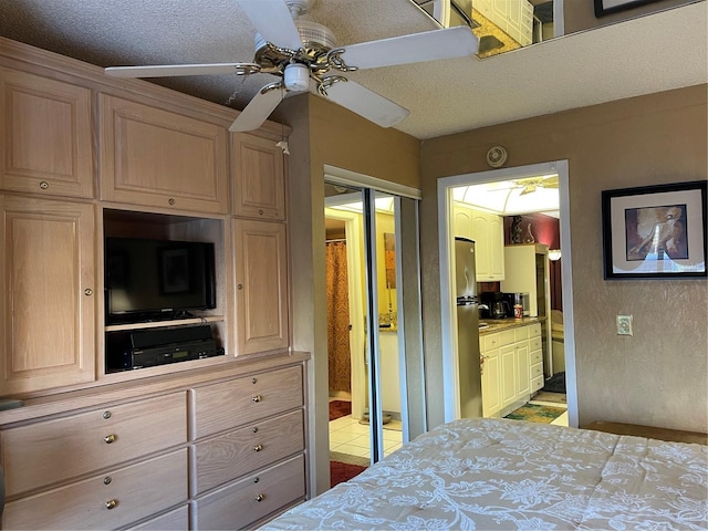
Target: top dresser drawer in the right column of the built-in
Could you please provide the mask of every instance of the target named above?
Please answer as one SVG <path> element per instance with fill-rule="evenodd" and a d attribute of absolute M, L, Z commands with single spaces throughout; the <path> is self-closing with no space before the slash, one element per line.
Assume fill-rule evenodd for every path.
<path fill-rule="evenodd" d="M 197 387 L 195 438 L 302 406 L 302 367 L 288 367 Z"/>

